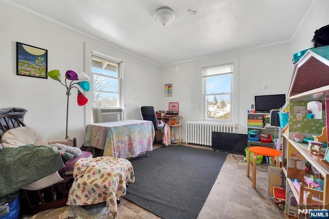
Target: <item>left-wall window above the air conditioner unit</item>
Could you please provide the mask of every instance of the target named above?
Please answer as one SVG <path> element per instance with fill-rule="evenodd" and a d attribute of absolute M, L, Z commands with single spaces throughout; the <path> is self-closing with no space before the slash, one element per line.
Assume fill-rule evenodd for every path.
<path fill-rule="evenodd" d="M 91 67 L 92 107 L 121 107 L 122 62 L 93 51 Z"/>

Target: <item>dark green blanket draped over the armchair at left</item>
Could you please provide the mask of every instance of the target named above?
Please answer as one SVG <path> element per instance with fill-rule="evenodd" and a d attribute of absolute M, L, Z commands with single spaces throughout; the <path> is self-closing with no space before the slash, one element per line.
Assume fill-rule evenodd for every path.
<path fill-rule="evenodd" d="M 15 192 L 64 167 L 62 155 L 72 154 L 47 146 L 24 145 L 0 150 L 0 197 Z"/>

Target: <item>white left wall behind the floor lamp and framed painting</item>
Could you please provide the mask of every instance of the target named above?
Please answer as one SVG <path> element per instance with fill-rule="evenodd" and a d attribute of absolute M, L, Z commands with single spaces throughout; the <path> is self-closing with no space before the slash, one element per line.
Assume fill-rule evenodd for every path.
<path fill-rule="evenodd" d="M 0 1 L 0 108 L 28 110 L 24 122 L 47 140 L 65 138 L 65 87 L 51 78 L 16 75 L 16 42 L 48 50 L 48 71 L 59 69 L 62 81 L 67 70 L 84 70 L 84 43 L 93 45 L 124 60 L 124 118 L 141 119 L 140 107 L 160 106 L 160 67 L 130 53 L 116 49 L 48 21 L 45 18 Z M 145 83 L 145 78 L 148 78 Z M 85 107 L 79 107 L 77 92 L 69 101 L 68 135 L 83 144 Z M 86 96 L 90 92 L 85 93 Z"/>

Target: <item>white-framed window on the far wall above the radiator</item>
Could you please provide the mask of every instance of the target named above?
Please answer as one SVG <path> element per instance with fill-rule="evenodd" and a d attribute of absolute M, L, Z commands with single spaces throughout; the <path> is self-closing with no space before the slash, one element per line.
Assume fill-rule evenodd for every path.
<path fill-rule="evenodd" d="M 237 122 L 237 60 L 203 68 L 204 118 Z M 233 68 L 234 67 L 234 68 Z M 233 89 L 235 87 L 235 89 Z"/>

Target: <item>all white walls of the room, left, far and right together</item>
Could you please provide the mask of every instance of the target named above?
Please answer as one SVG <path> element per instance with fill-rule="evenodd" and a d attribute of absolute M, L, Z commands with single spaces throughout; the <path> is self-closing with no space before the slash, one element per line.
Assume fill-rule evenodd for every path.
<path fill-rule="evenodd" d="M 200 66 L 239 58 L 239 125 L 246 133 L 247 110 L 254 95 L 286 93 L 293 64 L 291 55 L 312 46 L 314 31 L 328 24 L 329 1 L 317 0 L 291 43 L 255 48 L 205 57 L 189 62 L 158 67 L 130 53 L 70 30 L 40 16 L 0 1 L 0 108 L 22 107 L 28 110 L 25 122 L 47 139 L 65 137 L 65 89 L 52 79 L 16 75 L 16 42 L 48 50 L 48 70 L 84 69 L 84 43 L 108 50 L 125 59 L 124 118 L 141 119 L 140 106 L 168 109 L 169 102 L 179 102 L 185 122 L 202 120 L 202 84 Z M 145 78 L 147 85 L 145 86 Z M 173 96 L 164 97 L 165 84 L 173 84 Z M 264 90 L 262 84 L 268 84 Z M 86 93 L 88 95 L 88 93 Z M 76 103 L 72 93 L 69 103 L 69 136 L 78 137 L 82 145 L 85 108 Z M 88 113 L 87 113 L 88 114 Z"/>

